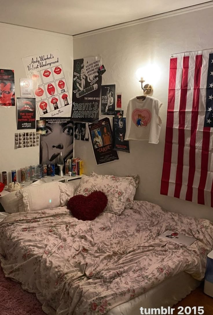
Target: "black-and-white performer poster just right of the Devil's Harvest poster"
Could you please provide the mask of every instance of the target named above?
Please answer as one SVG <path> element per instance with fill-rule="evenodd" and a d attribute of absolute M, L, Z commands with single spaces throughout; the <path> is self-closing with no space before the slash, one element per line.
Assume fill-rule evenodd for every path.
<path fill-rule="evenodd" d="M 101 85 L 101 115 L 115 115 L 115 84 Z"/>

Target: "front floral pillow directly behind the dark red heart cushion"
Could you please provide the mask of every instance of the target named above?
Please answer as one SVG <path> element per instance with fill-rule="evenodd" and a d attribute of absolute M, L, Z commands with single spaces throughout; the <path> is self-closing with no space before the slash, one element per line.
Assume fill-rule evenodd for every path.
<path fill-rule="evenodd" d="M 108 203 L 105 212 L 120 215 L 124 210 L 128 195 L 131 194 L 132 186 L 128 182 L 112 182 L 108 179 L 102 180 L 83 175 L 75 195 L 88 196 L 94 190 L 100 190 L 106 194 Z"/>

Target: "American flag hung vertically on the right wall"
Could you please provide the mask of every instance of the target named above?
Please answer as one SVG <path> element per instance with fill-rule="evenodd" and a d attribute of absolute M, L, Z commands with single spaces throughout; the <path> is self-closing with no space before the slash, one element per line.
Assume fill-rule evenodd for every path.
<path fill-rule="evenodd" d="M 213 49 L 171 56 L 161 194 L 213 207 Z"/>

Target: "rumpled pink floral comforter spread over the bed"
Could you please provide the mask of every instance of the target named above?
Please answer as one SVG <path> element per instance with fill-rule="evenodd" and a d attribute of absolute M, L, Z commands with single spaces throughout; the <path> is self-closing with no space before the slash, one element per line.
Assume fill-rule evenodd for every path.
<path fill-rule="evenodd" d="M 157 236 L 176 230 L 190 246 Z M 15 213 L 0 222 L 3 271 L 35 292 L 47 314 L 100 315 L 186 271 L 201 280 L 213 225 L 134 201 L 121 215 L 78 221 L 66 207 Z"/>

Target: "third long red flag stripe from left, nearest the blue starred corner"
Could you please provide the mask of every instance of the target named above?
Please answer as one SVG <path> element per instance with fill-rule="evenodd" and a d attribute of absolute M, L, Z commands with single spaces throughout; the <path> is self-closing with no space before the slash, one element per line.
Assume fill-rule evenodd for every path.
<path fill-rule="evenodd" d="M 191 117 L 191 138 L 189 149 L 189 171 L 188 171 L 188 187 L 186 192 L 186 200 L 192 201 L 193 181 L 195 173 L 195 143 L 196 131 L 198 126 L 199 115 L 199 95 L 200 95 L 200 77 L 202 67 L 202 55 L 196 55 L 194 69 L 194 93 L 192 102 L 192 117 Z"/>

